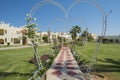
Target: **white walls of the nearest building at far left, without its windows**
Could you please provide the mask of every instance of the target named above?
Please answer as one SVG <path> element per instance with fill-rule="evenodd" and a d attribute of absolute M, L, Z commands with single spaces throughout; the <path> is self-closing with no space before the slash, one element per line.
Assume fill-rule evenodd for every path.
<path fill-rule="evenodd" d="M 10 24 L 6 24 L 3 22 L 0 23 L 0 29 L 4 30 L 4 35 L 0 35 L 0 39 L 4 40 L 4 45 L 7 45 L 8 42 L 10 43 L 10 45 L 22 45 L 22 33 L 20 32 L 22 29 L 10 26 Z M 20 43 L 14 43 L 15 38 L 19 39 Z M 13 39 L 13 42 L 11 39 Z"/>

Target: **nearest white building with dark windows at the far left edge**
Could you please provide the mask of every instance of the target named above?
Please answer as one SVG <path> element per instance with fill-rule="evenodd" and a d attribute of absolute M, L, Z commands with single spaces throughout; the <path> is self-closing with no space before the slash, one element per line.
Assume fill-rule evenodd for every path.
<path fill-rule="evenodd" d="M 20 28 L 0 22 L 0 45 L 22 45 L 22 33 Z"/>

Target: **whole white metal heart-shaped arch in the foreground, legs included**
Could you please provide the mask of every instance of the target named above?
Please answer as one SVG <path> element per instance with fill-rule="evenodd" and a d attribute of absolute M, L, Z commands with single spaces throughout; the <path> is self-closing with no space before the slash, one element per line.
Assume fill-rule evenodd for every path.
<path fill-rule="evenodd" d="M 52 4 L 52 5 L 55 5 L 57 7 L 59 7 L 63 13 L 65 14 L 65 18 L 66 18 L 66 29 L 68 28 L 68 14 L 70 12 L 70 10 L 72 9 L 72 7 L 74 7 L 75 5 L 81 3 L 81 2 L 86 2 L 86 3 L 90 3 L 92 5 L 94 5 L 100 12 L 101 16 L 102 16 L 102 30 L 101 30 L 101 37 L 104 37 L 105 35 L 105 32 L 106 32 L 106 15 L 105 15 L 105 12 L 104 10 L 98 5 L 98 3 L 96 3 L 95 1 L 93 0 L 76 0 L 75 3 L 73 3 L 67 10 L 61 5 L 59 4 L 57 1 L 54 1 L 54 0 L 44 0 L 44 1 L 41 1 L 39 2 L 38 4 L 36 4 L 30 11 L 30 13 L 28 14 L 28 18 L 27 18 L 27 25 L 30 25 L 34 22 L 34 18 L 33 18 L 33 14 L 34 12 L 39 9 L 40 7 L 44 6 L 44 5 L 47 5 L 47 4 Z M 89 64 L 89 67 L 87 69 L 87 72 L 86 73 L 89 73 L 91 71 L 91 68 L 93 66 L 93 63 L 94 61 L 96 60 L 96 57 L 98 56 L 98 50 L 100 48 L 100 45 L 101 45 L 101 42 L 102 42 L 102 39 L 103 38 L 100 38 L 99 40 L 99 44 L 96 46 L 95 50 L 94 50 L 94 53 L 93 53 L 93 57 L 91 58 L 91 61 L 90 61 L 90 64 Z M 37 59 L 37 51 L 36 51 L 36 48 L 35 48 L 35 45 L 34 45 L 34 42 L 33 42 L 33 49 L 34 49 L 34 55 L 36 56 L 36 59 Z M 39 59 L 37 59 L 37 62 L 38 62 L 38 65 L 39 65 L 39 69 L 41 69 L 41 67 L 43 68 L 42 64 L 40 63 Z"/>

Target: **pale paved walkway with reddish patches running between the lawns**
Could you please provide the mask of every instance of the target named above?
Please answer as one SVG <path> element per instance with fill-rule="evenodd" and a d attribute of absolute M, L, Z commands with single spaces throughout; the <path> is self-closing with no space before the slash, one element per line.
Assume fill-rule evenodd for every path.
<path fill-rule="evenodd" d="M 62 47 L 46 73 L 46 80 L 84 80 L 82 72 L 68 47 Z"/>

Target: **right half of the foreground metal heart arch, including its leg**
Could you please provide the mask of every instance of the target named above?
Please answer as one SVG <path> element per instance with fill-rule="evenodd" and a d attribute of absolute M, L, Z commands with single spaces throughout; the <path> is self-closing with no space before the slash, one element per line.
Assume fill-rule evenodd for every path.
<path fill-rule="evenodd" d="M 105 36 L 105 32 L 106 32 L 106 28 L 107 28 L 107 26 L 106 26 L 106 14 L 105 14 L 104 9 L 103 9 L 102 7 L 100 7 L 100 5 L 99 5 L 95 0 L 76 0 L 76 1 L 68 8 L 67 14 L 69 14 L 70 10 L 71 10 L 75 5 L 79 4 L 80 2 L 90 3 L 90 4 L 94 5 L 94 6 L 99 10 L 99 12 L 100 12 L 100 14 L 101 14 L 101 16 L 102 16 L 102 20 L 103 20 L 101 36 L 104 37 L 104 36 Z M 99 44 L 96 46 L 96 49 L 95 49 L 95 51 L 94 51 L 94 53 L 93 53 L 93 56 L 92 56 L 92 58 L 91 58 L 91 60 L 90 60 L 89 66 L 88 66 L 88 68 L 87 68 L 87 71 L 86 71 L 86 73 L 87 73 L 87 77 L 86 77 L 86 78 L 87 78 L 87 79 L 89 79 L 89 72 L 91 71 L 92 66 L 93 66 L 93 64 L 94 64 L 94 62 L 96 61 L 96 58 L 97 58 L 97 56 L 98 56 L 98 50 L 99 50 L 99 48 L 100 48 L 101 43 L 102 43 L 102 38 L 100 38 Z"/>

